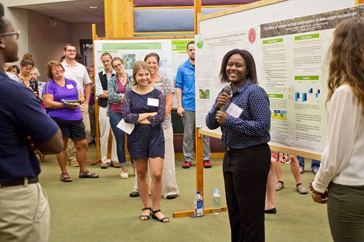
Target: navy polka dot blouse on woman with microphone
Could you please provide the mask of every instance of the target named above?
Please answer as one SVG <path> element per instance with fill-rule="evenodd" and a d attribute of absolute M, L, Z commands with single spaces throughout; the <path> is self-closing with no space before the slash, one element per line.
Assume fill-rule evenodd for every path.
<path fill-rule="evenodd" d="M 219 93 L 218 96 L 222 91 Z M 238 118 L 229 115 L 225 124 L 220 125 L 215 118 L 217 98 L 211 111 L 206 116 L 206 125 L 209 129 L 221 126 L 221 143 L 228 149 L 243 149 L 255 145 L 265 144 L 270 140 L 270 109 L 269 99 L 265 90 L 249 79 L 236 89 L 230 98 L 226 110 L 234 103 L 243 110 Z"/>

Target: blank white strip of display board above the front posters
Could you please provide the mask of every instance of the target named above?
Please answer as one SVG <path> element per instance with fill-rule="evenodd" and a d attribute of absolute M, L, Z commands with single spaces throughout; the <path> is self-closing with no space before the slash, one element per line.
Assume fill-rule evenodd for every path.
<path fill-rule="evenodd" d="M 352 7 L 355 0 L 286 0 L 199 22 L 200 33 L 212 33 Z"/>

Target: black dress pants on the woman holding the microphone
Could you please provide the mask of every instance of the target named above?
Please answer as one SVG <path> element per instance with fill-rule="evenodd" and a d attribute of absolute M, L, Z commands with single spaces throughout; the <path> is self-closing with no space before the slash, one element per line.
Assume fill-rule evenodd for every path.
<path fill-rule="evenodd" d="M 265 241 L 265 189 L 269 145 L 226 150 L 223 161 L 232 242 Z"/>

